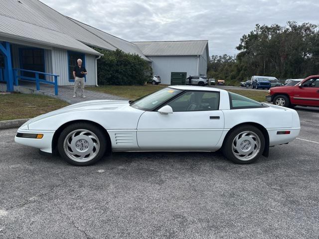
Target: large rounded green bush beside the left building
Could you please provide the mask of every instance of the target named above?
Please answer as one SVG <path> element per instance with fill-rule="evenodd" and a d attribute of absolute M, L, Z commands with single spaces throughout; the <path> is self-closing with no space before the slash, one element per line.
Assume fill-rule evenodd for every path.
<path fill-rule="evenodd" d="M 99 85 L 143 85 L 152 75 L 152 67 L 139 55 L 127 54 L 121 50 L 106 51 L 97 61 Z"/>

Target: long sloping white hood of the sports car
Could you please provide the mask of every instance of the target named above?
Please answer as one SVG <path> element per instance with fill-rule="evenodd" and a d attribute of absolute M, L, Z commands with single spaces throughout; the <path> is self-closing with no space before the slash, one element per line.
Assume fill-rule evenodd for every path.
<path fill-rule="evenodd" d="M 25 124 L 29 124 L 41 119 L 57 116 L 57 115 L 63 115 L 65 113 L 71 113 L 71 112 L 81 112 L 81 111 L 97 111 L 97 110 L 104 110 L 104 111 L 116 111 L 120 110 L 124 107 L 127 107 L 129 105 L 129 101 L 116 101 L 116 100 L 96 100 L 96 101 L 85 101 L 77 104 L 73 104 L 64 108 L 61 108 L 56 111 L 52 111 L 49 113 L 46 113 L 44 115 L 40 115 L 38 117 L 35 117 L 33 119 L 30 119 Z M 23 125 L 22 125 L 23 126 Z"/>

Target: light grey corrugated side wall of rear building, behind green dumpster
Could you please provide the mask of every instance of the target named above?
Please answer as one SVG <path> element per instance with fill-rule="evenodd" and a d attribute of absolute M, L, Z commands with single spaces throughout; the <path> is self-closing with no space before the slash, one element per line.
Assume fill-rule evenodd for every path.
<path fill-rule="evenodd" d="M 161 84 L 170 85 L 171 72 L 197 74 L 197 56 L 148 56 L 152 61 L 153 74 L 159 75 Z M 207 63 L 206 63 L 207 64 Z"/>

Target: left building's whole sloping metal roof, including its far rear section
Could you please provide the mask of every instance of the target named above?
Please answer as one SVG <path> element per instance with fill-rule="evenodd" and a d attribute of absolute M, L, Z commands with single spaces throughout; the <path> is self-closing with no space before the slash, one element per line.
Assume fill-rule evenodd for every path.
<path fill-rule="evenodd" d="M 150 61 L 135 44 L 73 20 L 39 0 L 1 0 L 0 16 L 4 19 L 0 21 L 0 36 L 20 36 L 23 40 L 95 55 L 100 53 L 88 46 L 106 50 L 118 48 Z"/>

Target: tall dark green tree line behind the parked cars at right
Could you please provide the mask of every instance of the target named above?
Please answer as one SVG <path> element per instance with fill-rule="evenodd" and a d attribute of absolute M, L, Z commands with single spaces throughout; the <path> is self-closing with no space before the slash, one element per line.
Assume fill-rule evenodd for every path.
<path fill-rule="evenodd" d="M 319 74 L 319 26 L 309 22 L 257 24 L 236 49 L 235 56 L 211 56 L 207 76 L 236 85 L 253 75 L 294 79 Z"/>

